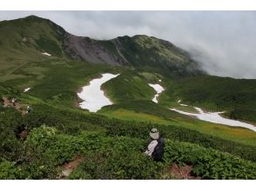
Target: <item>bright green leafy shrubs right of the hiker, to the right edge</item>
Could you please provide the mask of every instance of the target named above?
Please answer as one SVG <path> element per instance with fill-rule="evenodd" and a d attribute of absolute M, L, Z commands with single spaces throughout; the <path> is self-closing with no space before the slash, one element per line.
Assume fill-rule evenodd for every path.
<path fill-rule="evenodd" d="M 165 161 L 192 165 L 203 179 L 256 179 L 256 164 L 212 148 L 187 142 L 166 141 Z"/>

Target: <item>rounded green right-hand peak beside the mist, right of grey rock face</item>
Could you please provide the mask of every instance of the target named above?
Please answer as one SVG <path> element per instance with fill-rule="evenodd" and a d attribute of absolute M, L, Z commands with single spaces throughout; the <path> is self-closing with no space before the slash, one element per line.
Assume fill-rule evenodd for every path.
<path fill-rule="evenodd" d="M 187 52 L 153 36 L 119 36 L 98 43 L 118 59 L 125 59 L 126 65 L 143 71 L 155 71 L 165 76 L 194 76 L 202 73 Z"/>

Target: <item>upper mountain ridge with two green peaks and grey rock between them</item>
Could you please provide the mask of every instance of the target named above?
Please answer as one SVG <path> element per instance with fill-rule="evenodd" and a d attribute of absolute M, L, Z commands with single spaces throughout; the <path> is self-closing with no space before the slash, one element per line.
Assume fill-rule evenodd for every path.
<path fill-rule="evenodd" d="M 0 23 L 0 34 L 3 62 L 16 57 L 18 60 L 22 57 L 28 59 L 28 56 L 33 59 L 47 52 L 51 56 L 88 63 L 155 68 L 176 76 L 203 73 L 185 50 L 153 36 L 94 40 L 71 35 L 56 23 L 37 16 L 3 21 Z"/>

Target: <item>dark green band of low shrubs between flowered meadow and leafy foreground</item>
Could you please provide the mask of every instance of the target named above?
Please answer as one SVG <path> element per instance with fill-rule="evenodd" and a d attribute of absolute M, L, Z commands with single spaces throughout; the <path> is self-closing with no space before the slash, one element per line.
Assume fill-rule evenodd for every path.
<path fill-rule="evenodd" d="M 151 128 L 158 128 L 165 138 L 180 142 L 194 142 L 205 148 L 215 148 L 250 161 L 256 161 L 256 147 L 205 135 L 196 130 L 165 126 L 146 122 L 126 122 L 110 119 L 102 115 L 83 114 L 82 112 L 57 109 L 47 105 L 35 105 L 34 110 L 27 115 L 24 123 L 29 128 L 37 128 L 42 124 L 56 127 L 61 132 L 76 135 L 81 130 L 105 130 L 111 136 L 131 136 L 148 138 Z"/>

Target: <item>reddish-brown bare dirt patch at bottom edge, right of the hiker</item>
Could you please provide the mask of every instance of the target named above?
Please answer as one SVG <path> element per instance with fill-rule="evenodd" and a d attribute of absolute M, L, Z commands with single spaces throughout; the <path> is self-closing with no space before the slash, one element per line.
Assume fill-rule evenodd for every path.
<path fill-rule="evenodd" d="M 172 164 L 168 168 L 168 171 L 172 173 L 175 179 L 185 180 L 200 180 L 200 177 L 191 175 L 192 166 L 179 167 L 177 164 Z"/>

